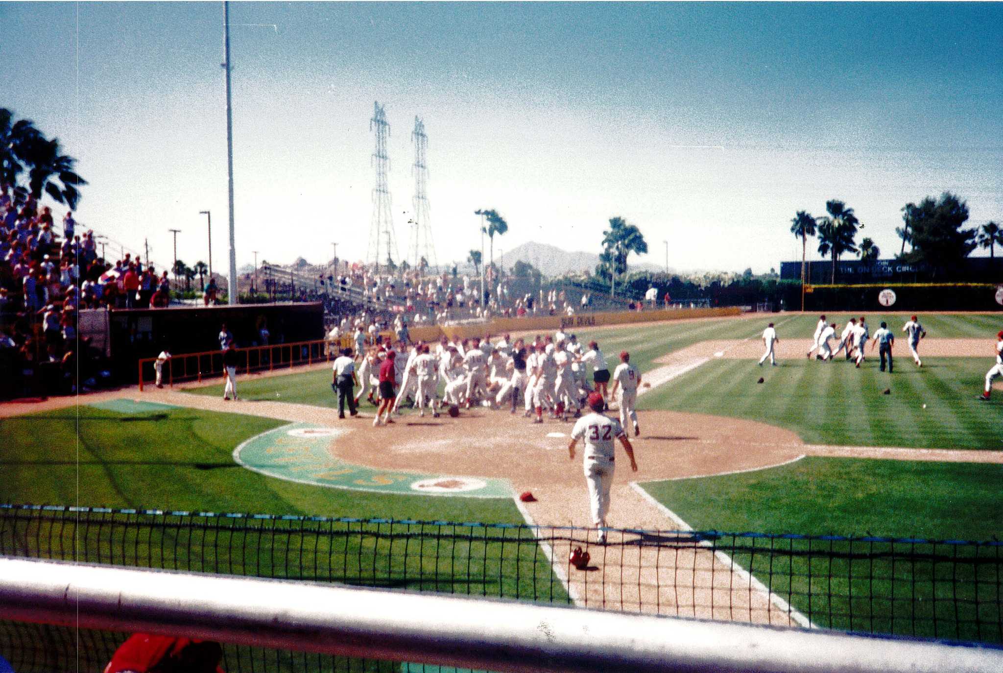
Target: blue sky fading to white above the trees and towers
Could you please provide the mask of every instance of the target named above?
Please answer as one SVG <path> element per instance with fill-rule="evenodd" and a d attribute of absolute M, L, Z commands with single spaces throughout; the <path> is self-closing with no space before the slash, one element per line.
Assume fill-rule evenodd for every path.
<path fill-rule="evenodd" d="M 1003 221 L 1000 3 L 235 3 L 231 21 L 241 265 L 364 257 L 374 100 L 400 254 L 424 120 L 440 262 L 479 245 L 478 208 L 509 221 L 495 248 L 598 252 L 622 216 L 648 261 L 668 240 L 675 268 L 756 272 L 799 257 L 789 220 L 828 199 L 886 253 L 928 195 Z M 181 229 L 192 264 L 212 210 L 219 270 L 222 23 L 215 2 L 0 3 L 0 105 L 79 159 L 79 219 L 168 262 Z"/>

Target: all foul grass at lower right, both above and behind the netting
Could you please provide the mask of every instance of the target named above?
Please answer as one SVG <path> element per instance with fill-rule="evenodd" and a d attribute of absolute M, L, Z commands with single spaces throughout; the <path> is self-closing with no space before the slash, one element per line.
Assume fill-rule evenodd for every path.
<path fill-rule="evenodd" d="M 807 457 L 644 487 L 699 531 L 989 541 L 1000 533 L 1001 478 L 999 464 Z M 732 551 L 736 563 L 815 624 L 988 642 L 1001 640 L 992 563 L 999 554 L 992 547 L 796 538 L 746 539 Z"/>

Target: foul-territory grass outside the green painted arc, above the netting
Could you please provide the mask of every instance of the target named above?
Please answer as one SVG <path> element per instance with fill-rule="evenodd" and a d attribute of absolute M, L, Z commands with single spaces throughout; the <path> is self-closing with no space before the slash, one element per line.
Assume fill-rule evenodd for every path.
<path fill-rule="evenodd" d="M 508 498 L 323 488 L 244 469 L 233 450 L 284 421 L 88 406 L 0 419 L 0 501 L 522 524 Z"/>

